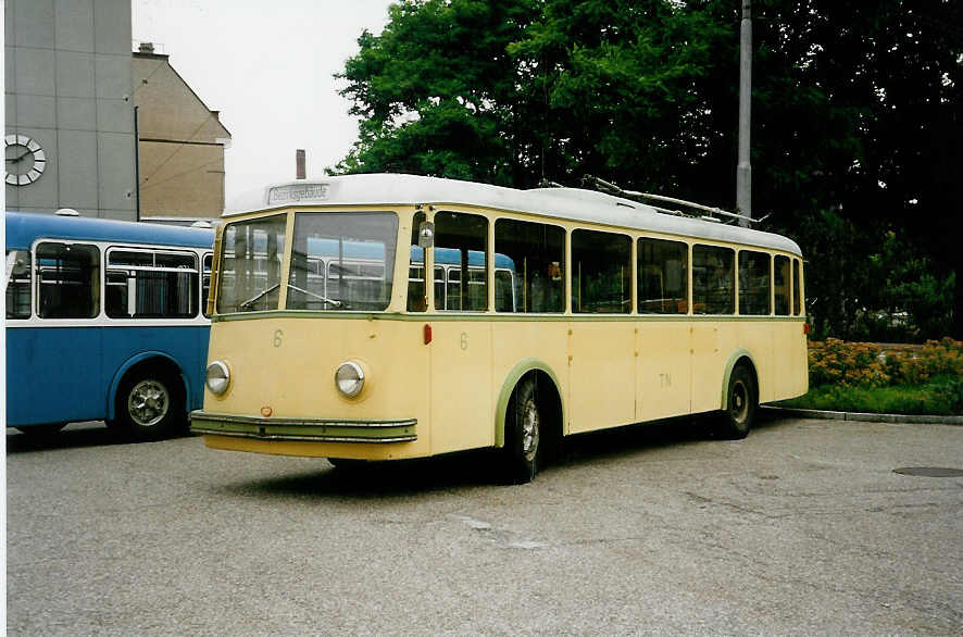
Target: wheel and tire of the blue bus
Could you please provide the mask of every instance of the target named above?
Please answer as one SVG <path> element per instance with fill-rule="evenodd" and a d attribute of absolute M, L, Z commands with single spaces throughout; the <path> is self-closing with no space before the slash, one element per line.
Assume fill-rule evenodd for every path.
<path fill-rule="evenodd" d="M 157 367 L 135 371 L 117 390 L 116 422 L 134 440 L 160 440 L 187 430 L 176 379 Z"/>

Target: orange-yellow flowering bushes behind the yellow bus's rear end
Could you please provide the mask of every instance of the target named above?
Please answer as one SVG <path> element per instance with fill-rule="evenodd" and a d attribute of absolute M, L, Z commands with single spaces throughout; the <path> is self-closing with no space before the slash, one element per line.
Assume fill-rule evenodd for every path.
<path fill-rule="evenodd" d="M 836 338 L 809 344 L 810 385 L 918 385 L 937 376 L 963 378 L 963 342 L 945 338 L 922 349 L 885 352 L 870 342 Z"/>

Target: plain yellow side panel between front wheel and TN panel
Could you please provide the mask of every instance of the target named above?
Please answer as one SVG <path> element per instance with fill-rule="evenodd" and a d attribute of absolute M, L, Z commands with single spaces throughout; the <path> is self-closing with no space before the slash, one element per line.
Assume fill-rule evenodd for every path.
<path fill-rule="evenodd" d="M 570 323 L 568 433 L 635 422 L 635 325 L 628 321 Z"/>

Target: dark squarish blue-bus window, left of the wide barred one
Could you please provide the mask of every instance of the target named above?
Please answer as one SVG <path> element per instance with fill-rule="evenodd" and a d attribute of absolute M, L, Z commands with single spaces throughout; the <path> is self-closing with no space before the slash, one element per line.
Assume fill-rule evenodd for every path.
<path fill-rule="evenodd" d="M 97 246 L 37 246 L 37 313 L 41 318 L 93 318 L 100 313 Z"/>

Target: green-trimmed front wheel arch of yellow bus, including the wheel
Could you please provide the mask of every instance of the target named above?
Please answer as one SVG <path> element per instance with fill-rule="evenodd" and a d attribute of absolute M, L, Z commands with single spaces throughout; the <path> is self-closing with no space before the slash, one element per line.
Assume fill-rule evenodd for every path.
<path fill-rule="evenodd" d="M 520 363 L 509 374 L 499 397 L 496 432 L 506 482 L 530 482 L 543 460 L 558 450 L 562 410 L 558 382 L 547 365 Z"/>

